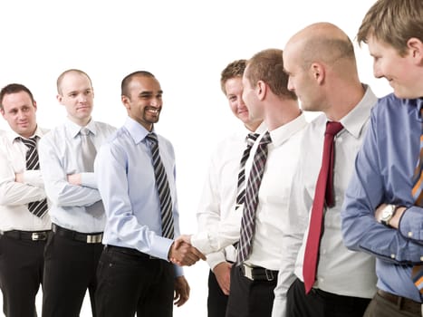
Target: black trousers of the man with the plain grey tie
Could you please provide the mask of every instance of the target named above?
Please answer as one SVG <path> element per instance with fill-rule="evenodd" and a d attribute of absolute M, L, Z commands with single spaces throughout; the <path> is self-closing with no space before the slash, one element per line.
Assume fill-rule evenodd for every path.
<path fill-rule="evenodd" d="M 49 235 L 44 251 L 43 317 L 79 317 L 87 289 L 95 312 L 96 271 L 103 245 Z"/>

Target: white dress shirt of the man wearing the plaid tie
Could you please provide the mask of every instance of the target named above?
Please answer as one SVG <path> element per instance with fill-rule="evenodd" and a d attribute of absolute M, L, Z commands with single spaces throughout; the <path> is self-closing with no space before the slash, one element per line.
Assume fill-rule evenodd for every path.
<path fill-rule="evenodd" d="M 255 214 L 255 236 L 252 252 L 245 264 L 278 270 L 285 257 L 280 250 L 281 240 L 289 229 L 286 211 L 289 203 L 293 170 L 298 161 L 303 130 L 307 126 L 304 115 L 270 132 L 272 143 L 268 154 Z M 256 140 L 245 163 L 245 176 L 255 156 L 263 134 Z M 242 207 L 240 207 L 242 208 Z M 242 213 L 240 209 L 239 214 Z M 191 237 L 192 245 L 204 254 L 215 252 L 239 239 L 241 216 L 232 213 L 214 231 L 199 232 Z"/>

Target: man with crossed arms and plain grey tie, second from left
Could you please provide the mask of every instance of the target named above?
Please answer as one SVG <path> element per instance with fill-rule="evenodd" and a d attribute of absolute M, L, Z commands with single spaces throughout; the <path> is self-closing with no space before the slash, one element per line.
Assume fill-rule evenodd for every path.
<path fill-rule="evenodd" d="M 44 251 L 43 317 L 79 316 L 87 288 L 96 316 L 93 295 L 106 217 L 92 164 L 96 149 L 116 129 L 91 119 L 94 91 L 85 72 L 62 72 L 57 91 L 67 118 L 39 146 L 53 223 Z M 84 130 L 89 132 L 91 158 L 83 151 Z"/>

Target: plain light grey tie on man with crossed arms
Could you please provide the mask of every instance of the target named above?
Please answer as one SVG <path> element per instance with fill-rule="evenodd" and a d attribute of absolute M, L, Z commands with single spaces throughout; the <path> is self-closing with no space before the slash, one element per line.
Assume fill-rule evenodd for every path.
<path fill-rule="evenodd" d="M 80 130 L 81 136 L 81 149 L 82 149 L 82 172 L 93 172 L 94 171 L 94 159 L 97 155 L 97 150 L 95 149 L 94 143 L 91 139 L 91 131 L 88 128 L 83 127 Z M 100 217 L 103 215 L 103 204 L 99 200 L 92 204 L 91 206 L 85 207 L 87 213 L 91 216 Z"/>

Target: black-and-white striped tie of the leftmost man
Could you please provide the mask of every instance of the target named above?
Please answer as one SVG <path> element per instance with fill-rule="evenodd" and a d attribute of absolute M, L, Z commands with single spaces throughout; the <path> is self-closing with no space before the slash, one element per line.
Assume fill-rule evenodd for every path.
<path fill-rule="evenodd" d="M 26 151 L 26 169 L 40 169 L 40 162 L 37 151 L 37 137 L 31 139 L 19 138 L 28 150 Z M 47 198 L 33 201 L 28 204 L 28 209 L 34 216 L 43 217 L 48 210 Z"/>

